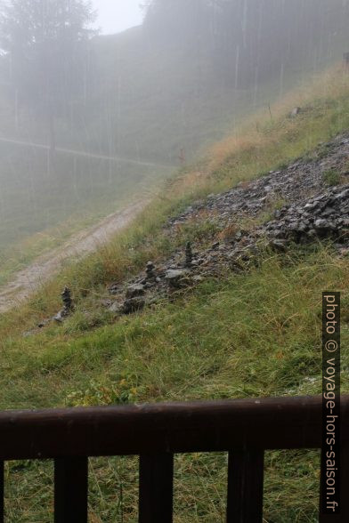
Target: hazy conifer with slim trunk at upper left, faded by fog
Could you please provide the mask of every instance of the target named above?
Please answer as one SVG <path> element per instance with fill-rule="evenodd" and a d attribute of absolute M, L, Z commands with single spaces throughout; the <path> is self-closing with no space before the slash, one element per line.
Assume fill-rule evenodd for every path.
<path fill-rule="evenodd" d="M 0 2 L 0 47 L 10 82 L 20 101 L 45 117 L 52 150 L 54 120 L 84 84 L 93 20 L 92 4 L 84 0 Z"/>

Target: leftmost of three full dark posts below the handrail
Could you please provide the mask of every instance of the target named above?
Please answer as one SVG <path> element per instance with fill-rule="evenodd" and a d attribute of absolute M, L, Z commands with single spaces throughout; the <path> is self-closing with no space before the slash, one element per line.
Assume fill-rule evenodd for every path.
<path fill-rule="evenodd" d="M 87 523 L 88 459 L 54 460 L 54 523 Z"/>

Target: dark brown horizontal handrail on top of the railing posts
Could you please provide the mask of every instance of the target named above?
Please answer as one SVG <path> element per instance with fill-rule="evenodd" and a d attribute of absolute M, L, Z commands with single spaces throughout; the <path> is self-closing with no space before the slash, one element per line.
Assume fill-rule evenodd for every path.
<path fill-rule="evenodd" d="M 344 413 L 349 412 L 349 398 L 343 398 L 341 405 Z M 224 451 L 245 446 L 321 447 L 321 398 L 256 398 L 0 414 L 0 458 L 4 460 Z"/>

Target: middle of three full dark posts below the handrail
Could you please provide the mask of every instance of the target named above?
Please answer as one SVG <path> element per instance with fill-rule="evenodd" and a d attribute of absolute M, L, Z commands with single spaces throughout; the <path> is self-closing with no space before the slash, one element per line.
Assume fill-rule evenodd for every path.
<path fill-rule="evenodd" d="M 141 455 L 139 523 L 172 523 L 174 455 Z"/>

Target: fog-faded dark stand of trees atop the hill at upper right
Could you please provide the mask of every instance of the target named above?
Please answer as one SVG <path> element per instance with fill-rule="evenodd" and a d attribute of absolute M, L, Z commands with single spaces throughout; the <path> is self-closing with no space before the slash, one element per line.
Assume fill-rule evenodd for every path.
<path fill-rule="evenodd" d="M 326 57 L 349 22 L 347 0 L 152 0 L 151 36 L 200 46 L 216 74 L 238 89 L 305 58 Z"/>

